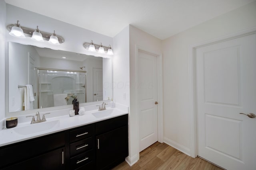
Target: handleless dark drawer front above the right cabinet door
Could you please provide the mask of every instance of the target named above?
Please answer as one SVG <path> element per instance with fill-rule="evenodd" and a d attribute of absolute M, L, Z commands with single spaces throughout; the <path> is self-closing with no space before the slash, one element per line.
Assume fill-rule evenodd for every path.
<path fill-rule="evenodd" d="M 95 123 L 96 135 L 128 125 L 128 114 Z"/>

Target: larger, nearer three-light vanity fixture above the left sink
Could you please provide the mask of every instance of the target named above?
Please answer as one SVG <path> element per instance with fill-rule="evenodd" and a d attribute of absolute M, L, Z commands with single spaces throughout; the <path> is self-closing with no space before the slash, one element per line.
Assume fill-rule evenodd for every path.
<path fill-rule="evenodd" d="M 55 30 L 54 33 L 51 34 L 40 31 L 38 26 L 36 27 L 36 29 L 21 27 L 20 21 L 17 21 L 16 24 L 7 25 L 6 28 L 8 29 L 8 31 L 10 31 L 9 34 L 14 37 L 25 38 L 26 36 L 31 37 L 31 39 L 35 41 L 43 42 L 45 40 L 48 41 L 48 43 L 54 45 L 60 45 L 60 43 L 64 43 L 64 39 L 61 36 L 57 36 L 55 34 Z"/>

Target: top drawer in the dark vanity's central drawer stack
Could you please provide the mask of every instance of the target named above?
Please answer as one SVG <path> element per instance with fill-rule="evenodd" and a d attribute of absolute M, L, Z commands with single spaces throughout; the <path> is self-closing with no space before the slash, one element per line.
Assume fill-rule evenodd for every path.
<path fill-rule="evenodd" d="M 84 126 L 70 131 L 70 143 L 80 139 L 91 137 L 94 133 L 94 125 Z"/>

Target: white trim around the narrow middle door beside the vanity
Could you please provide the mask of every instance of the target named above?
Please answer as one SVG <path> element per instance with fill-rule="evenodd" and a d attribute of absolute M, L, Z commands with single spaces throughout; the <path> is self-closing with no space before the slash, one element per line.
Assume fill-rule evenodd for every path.
<path fill-rule="evenodd" d="M 144 48 L 140 45 L 136 45 L 136 119 L 139 119 L 139 107 L 138 107 L 138 86 L 137 86 L 137 79 L 138 79 L 138 56 L 139 51 L 143 51 L 145 53 L 148 53 L 150 55 L 154 55 L 157 58 L 157 100 L 158 100 L 158 142 L 163 143 L 164 142 L 164 113 L 163 113 L 163 58 L 161 53 L 157 53 L 155 51 L 152 51 L 150 49 Z M 139 129 L 139 121 L 136 123 L 137 129 Z M 137 134 L 139 139 L 139 133 Z M 137 142 L 137 148 L 138 148 L 138 157 L 139 157 L 139 141 Z"/>

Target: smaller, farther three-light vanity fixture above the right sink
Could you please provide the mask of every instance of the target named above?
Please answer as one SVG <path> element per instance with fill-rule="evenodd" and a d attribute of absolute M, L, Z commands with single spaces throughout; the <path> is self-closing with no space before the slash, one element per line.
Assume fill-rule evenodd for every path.
<path fill-rule="evenodd" d="M 83 46 L 88 51 L 113 55 L 113 50 L 110 47 L 110 45 L 108 45 L 108 47 L 104 47 L 104 46 L 102 46 L 102 43 L 100 43 L 100 45 L 96 45 L 91 41 L 91 43 L 83 43 Z"/>

